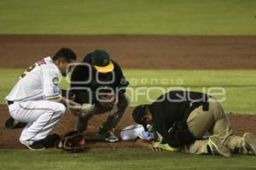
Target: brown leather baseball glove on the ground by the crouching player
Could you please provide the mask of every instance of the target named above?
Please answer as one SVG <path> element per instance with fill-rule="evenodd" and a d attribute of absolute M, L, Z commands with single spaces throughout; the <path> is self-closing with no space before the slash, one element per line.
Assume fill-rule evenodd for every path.
<path fill-rule="evenodd" d="M 66 133 L 59 141 L 56 141 L 55 147 L 67 152 L 82 152 L 84 150 L 84 136 L 77 131 Z"/>

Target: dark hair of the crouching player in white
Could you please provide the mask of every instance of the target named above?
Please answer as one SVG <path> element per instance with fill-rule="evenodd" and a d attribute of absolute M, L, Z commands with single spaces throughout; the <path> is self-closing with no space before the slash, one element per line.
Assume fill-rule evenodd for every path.
<path fill-rule="evenodd" d="M 57 51 L 57 53 L 53 56 L 52 59 L 53 60 L 60 59 L 60 60 L 67 61 L 69 63 L 71 59 L 73 60 L 77 59 L 77 55 L 70 48 L 61 48 L 59 51 Z"/>

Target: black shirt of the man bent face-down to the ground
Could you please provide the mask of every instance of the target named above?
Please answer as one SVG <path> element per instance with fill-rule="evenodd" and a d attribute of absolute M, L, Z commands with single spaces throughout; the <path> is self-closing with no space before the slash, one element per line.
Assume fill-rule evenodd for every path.
<path fill-rule="evenodd" d="M 167 133 L 174 122 L 187 120 L 191 111 L 207 102 L 210 96 L 198 92 L 171 91 L 161 95 L 149 105 L 154 130 L 163 136 L 163 143 L 168 141 Z"/>

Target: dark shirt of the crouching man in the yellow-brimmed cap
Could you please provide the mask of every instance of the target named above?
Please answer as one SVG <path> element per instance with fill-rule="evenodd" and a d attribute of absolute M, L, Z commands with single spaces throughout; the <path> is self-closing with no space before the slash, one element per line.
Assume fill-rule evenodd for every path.
<path fill-rule="evenodd" d="M 114 70 L 109 73 L 99 73 L 90 65 L 91 54 L 87 54 L 82 65 L 74 68 L 71 76 L 72 92 L 76 94 L 75 101 L 83 103 L 97 103 L 97 91 L 102 93 L 109 93 L 109 88 L 113 89 L 114 93 L 125 94 L 125 88 L 129 82 L 125 80 L 120 66 L 113 60 Z M 84 65 L 83 65 L 84 64 Z"/>

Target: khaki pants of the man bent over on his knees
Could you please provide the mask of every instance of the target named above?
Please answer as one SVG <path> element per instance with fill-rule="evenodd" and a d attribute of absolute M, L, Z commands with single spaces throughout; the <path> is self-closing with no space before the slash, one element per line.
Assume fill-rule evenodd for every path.
<path fill-rule="evenodd" d="M 209 111 L 202 106 L 191 112 L 187 120 L 190 132 L 198 139 L 209 133 L 218 139 L 232 152 L 246 154 L 245 142 L 242 137 L 235 136 L 224 109 L 216 99 L 208 99 Z M 196 140 L 184 149 L 186 153 L 207 154 L 207 140 Z"/>

